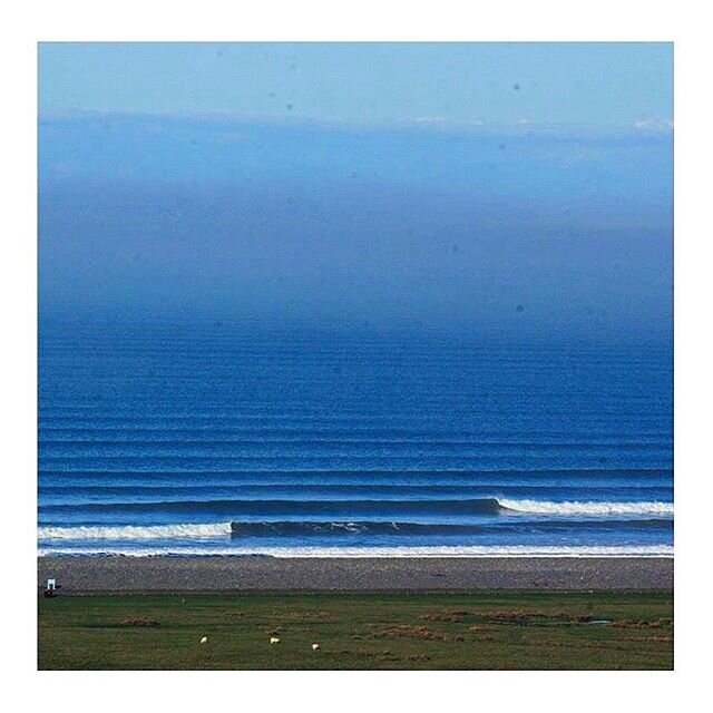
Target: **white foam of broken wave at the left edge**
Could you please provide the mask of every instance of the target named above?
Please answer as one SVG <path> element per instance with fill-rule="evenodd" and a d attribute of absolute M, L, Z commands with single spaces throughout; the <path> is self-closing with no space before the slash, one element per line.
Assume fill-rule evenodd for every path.
<path fill-rule="evenodd" d="M 225 537 L 231 534 L 229 522 L 192 525 L 124 525 L 115 527 L 40 527 L 40 539 L 166 539 Z"/>

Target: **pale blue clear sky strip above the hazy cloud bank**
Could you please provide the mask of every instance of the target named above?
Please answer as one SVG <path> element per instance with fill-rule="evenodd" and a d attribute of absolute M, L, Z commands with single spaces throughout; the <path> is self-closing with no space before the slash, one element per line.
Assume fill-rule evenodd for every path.
<path fill-rule="evenodd" d="M 673 118 L 671 43 L 41 43 L 40 113 L 632 127 Z"/>

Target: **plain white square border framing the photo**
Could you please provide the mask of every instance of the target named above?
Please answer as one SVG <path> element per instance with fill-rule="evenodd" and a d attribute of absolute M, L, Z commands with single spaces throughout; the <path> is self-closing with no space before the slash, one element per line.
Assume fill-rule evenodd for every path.
<path fill-rule="evenodd" d="M 495 6 L 495 7 L 494 7 Z M 701 3 L 697 7 L 703 7 Z M 664 9 L 665 8 L 665 9 Z M 707 168 L 709 26 L 691 3 L 535 0 L 476 4 L 314 0 L 260 4 L 176 2 L 13 3 L 6 9 L 3 126 L 10 154 L 3 170 L 6 219 L 2 283 L 3 459 L 7 495 L 2 595 L 6 673 L 22 707 L 55 711 L 196 711 L 336 709 L 340 712 L 437 710 L 668 711 L 703 692 L 710 658 L 710 554 L 704 525 L 711 504 L 710 431 L 711 231 Z M 11 17 L 8 18 L 7 13 Z M 37 41 L 99 40 L 404 40 L 404 41 L 675 41 L 675 478 L 676 673 L 69 673 L 36 672 L 36 58 Z M 709 149 L 706 152 L 706 148 Z M 706 172 L 706 173 L 704 173 Z M 8 215 L 6 214 L 6 215 Z M 8 667 L 9 666 L 9 667 Z M 121 684 L 113 676 L 120 675 Z M 282 685 L 281 685 L 282 684 Z M 514 685 L 515 684 L 515 685 Z M 692 706 L 696 703 L 691 703 Z M 685 710 L 685 709 L 684 709 Z"/>

